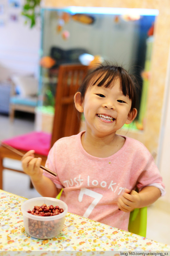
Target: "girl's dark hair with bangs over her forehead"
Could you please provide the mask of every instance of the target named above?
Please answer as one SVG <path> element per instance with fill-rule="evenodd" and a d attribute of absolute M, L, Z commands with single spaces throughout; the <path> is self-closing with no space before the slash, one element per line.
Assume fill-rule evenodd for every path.
<path fill-rule="evenodd" d="M 79 88 L 81 99 L 84 100 L 85 93 L 90 85 L 109 88 L 114 86 L 114 81 L 116 79 L 120 79 L 120 87 L 123 95 L 128 95 L 131 99 L 132 105 L 130 111 L 132 111 L 136 108 L 139 89 L 139 86 L 135 81 L 135 77 L 132 77 L 124 68 L 108 65 L 108 63 L 106 65 L 99 64 L 97 68 L 88 71 Z"/>

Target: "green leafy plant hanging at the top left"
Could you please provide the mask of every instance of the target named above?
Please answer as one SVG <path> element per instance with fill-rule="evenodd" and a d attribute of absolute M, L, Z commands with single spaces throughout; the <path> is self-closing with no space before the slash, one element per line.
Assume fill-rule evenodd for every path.
<path fill-rule="evenodd" d="M 30 21 L 30 27 L 34 27 L 36 19 L 40 15 L 40 2 L 41 0 L 25 0 L 23 5 L 22 15 L 27 17 Z M 26 21 L 27 22 L 27 21 Z"/>

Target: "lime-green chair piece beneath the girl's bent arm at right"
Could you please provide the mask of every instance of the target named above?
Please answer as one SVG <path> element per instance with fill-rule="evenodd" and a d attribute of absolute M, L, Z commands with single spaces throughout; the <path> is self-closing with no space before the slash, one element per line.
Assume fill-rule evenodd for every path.
<path fill-rule="evenodd" d="M 136 208 L 130 213 L 129 232 L 146 237 L 147 207 Z"/>

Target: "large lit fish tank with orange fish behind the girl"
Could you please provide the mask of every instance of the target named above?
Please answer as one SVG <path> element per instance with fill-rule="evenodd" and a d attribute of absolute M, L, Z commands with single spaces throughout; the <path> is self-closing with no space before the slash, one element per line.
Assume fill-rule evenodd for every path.
<path fill-rule="evenodd" d="M 54 111 L 61 64 L 89 65 L 97 57 L 123 66 L 136 77 L 141 92 L 138 115 L 131 127 L 143 130 L 157 15 L 158 10 L 153 9 L 41 9 L 38 108 Z"/>

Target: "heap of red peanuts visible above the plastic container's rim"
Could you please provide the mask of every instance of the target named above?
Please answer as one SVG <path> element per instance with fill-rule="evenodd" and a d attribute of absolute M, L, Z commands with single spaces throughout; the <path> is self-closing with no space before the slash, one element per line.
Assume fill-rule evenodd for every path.
<path fill-rule="evenodd" d="M 63 208 L 60 208 L 58 205 L 57 206 L 47 206 L 46 204 L 43 204 L 41 206 L 35 205 L 33 210 L 28 210 L 28 213 L 31 213 L 33 215 L 39 215 L 39 216 L 54 216 L 58 215 L 60 213 L 63 213 L 64 210 Z"/>

